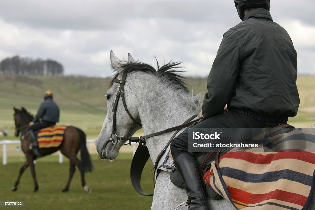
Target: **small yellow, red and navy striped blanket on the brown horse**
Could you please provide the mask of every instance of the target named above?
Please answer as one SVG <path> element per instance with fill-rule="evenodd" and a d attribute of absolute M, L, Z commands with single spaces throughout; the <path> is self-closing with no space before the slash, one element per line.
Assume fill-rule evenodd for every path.
<path fill-rule="evenodd" d="M 37 134 L 39 148 L 58 147 L 63 140 L 67 126 L 53 126 L 41 129 Z"/>

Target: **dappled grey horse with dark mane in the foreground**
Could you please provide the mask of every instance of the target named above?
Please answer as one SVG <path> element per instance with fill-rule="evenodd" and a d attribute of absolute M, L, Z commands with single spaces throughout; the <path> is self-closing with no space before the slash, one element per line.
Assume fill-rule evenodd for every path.
<path fill-rule="evenodd" d="M 130 54 L 128 54 L 128 61 L 123 62 L 111 51 L 110 59 L 112 68 L 116 73 L 114 79 L 121 79 L 123 72 L 129 71 L 124 85 L 124 97 L 129 114 L 133 119 L 125 111 L 123 102 L 120 99 L 117 104 L 117 119 L 115 120 L 115 130 L 118 136 L 134 134 L 140 128 L 136 122 L 142 124 L 143 132 L 147 135 L 180 125 L 191 116 L 200 113 L 200 97 L 192 95 L 187 90 L 182 80 L 183 77 L 179 76 L 178 71 L 175 70 L 180 63 L 158 66 L 156 71 L 151 65 L 135 62 Z M 119 83 L 114 82 L 106 92 L 108 112 L 100 134 L 96 139 L 96 149 L 101 159 L 115 159 L 121 146 L 126 143 L 126 141 L 117 141 L 117 144 L 113 144 L 110 141 L 110 138 L 113 137 L 112 109 L 115 105 L 118 90 Z M 146 145 L 153 163 L 173 133 L 165 133 L 146 139 Z M 164 160 L 165 155 L 162 156 L 159 165 Z M 172 160 L 170 159 L 168 162 L 172 162 Z M 151 209 L 174 210 L 186 200 L 186 190 L 172 184 L 169 179 L 169 172 L 162 171 L 156 180 Z M 213 210 L 235 209 L 229 201 L 224 199 L 209 199 L 208 203 L 210 209 Z M 181 206 L 178 209 L 187 209 L 187 207 Z M 306 209 L 315 209 L 313 196 Z"/>

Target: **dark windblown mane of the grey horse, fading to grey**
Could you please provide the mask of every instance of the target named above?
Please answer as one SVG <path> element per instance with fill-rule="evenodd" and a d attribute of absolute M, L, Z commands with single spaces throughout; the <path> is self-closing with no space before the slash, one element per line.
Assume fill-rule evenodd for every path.
<path fill-rule="evenodd" d="M 157 61 L 157 60 L 156 60 Z M 160 82 L 165 84 L 167 87 L 174 90 L 177 96 L 179 96 L 180 100 L 188 105 L 188 108 L 192 112 L 199 113 L 201 110 L 201 102 L 200 102 L 200 94 L 194 96 L 186 87 L 186 77 L 180 75 L 183 71 L 180 71 L 176 68 L 180 68 L 180 64 L 182 62 L 169 62 L 160 67 L 157 62 L 157 70 L 142 62 L 123 62 L 121 64 L 121 68 L 123 69 L 121 73 L 128 71 L 128 73 L 132 73 L 135 71 L 146 72 L 155 76 Z M 114 80 L 117 78 L 119 72 L 117 72 L 112 81 L 110 82 L 110 87 L 114 83 Z"/>

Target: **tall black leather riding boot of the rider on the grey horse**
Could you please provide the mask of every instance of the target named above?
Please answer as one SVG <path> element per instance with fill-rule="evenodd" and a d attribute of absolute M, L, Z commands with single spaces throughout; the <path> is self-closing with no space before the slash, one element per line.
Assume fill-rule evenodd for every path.
<path fill-rule="evenodd" d="M 198 167 L 190 153 L 177 156 L 175 165 L 182 176 L 187 196 L 191 198 L 189 210 L 208 210 L 208 202 L 203 191 Z"/>

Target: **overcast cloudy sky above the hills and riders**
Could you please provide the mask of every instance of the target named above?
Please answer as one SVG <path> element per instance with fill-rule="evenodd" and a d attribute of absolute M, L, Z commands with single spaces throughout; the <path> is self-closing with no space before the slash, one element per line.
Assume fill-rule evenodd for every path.
<path fill-rule="evenodd" d="M 272 0 L 292 38 L 299 73 L 315 74 L 315 1 Z M 66 75 L 112 75 L 120 59 L 183 61 L 207 76 L 222 35 L 241 20 L 233 0 L 1 0 L 0 60 L 14 55 L 60 62 Z"/>

